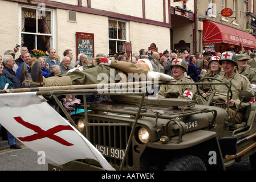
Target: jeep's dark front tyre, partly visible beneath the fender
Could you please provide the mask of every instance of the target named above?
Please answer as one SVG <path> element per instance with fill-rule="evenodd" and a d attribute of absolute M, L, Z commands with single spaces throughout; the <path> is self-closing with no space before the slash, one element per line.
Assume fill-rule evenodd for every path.
<path fill-rule="evenodd" d="M 204 162 L 194 155 L 174 158 L 165 166 L 165 171 L 206 171 Z"/>

